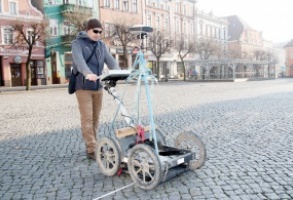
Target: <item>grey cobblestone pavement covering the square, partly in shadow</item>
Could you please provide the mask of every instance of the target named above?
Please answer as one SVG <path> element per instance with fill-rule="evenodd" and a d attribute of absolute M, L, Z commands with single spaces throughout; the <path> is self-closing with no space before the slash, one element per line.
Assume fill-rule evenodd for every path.
<path fill-rule="evenodd" d="M 117 90 L 126 87 L 131 105 L 135 86 Z M 161 83 L 153 98 L 167 142 L 192 130 L 207 161 L 144 191 L 128 174 L 105 177 L 86 159 L 75 95 L 65 88 L 1 93 L 0 199 L 293 199 L 292 79 Z M 115 109 L 104 92 L 101 134 Z"/>

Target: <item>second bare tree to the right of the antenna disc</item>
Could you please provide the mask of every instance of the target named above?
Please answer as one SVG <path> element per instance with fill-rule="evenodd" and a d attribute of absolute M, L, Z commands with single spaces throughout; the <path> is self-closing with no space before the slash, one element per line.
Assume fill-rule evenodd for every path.
<path fill-rule="evenodd" d="M 183 65 L 183 80 L 186 80 L 186 67 L 184 59 L 188 54 L 195 53 L 196 44 L 192 39 L 186 38 L 184 35 L 181 36 L 180 40 L 177 42 L 176 49 L 178 51 L 178 56 Z"/>

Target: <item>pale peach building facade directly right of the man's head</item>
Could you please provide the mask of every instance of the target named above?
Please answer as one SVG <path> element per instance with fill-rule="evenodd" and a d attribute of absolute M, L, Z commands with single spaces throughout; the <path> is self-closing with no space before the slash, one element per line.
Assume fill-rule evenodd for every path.
<path fill-rule="evenodd" d="M 121 68 L 131 68 L 135 59 L 135 55 L 132 53 L 135 44 L 128 43 L 126 53 L 124 53 L 121 40 L 113 35 L 114 27 L 119 26 L 117 29 L 120 29 L 126 37 L 129 37 L 126 33 L 127 30 L 124 29 L 125 27 L 142 24 L 143 2 L 144 0 L 99 1 L 99 18 L 104 27 L 102 37 L 104 37 L 104 42 Z M 128 42 L 128 40 L 126 39 L 125 42 Z M 124 55 L 126 55 L 126 58 Z"/>

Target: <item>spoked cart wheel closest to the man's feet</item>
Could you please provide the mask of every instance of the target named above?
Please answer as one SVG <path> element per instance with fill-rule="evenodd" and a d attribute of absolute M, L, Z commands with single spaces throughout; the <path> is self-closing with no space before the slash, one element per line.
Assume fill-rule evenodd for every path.
<path fill-rule="evenodd" d="M 121 155 L 117 144 L 112 138 L 103 137 L 98 141 L 96 148 L 96 158 L 101 172 L 106 176 L 117 174 Z"/>

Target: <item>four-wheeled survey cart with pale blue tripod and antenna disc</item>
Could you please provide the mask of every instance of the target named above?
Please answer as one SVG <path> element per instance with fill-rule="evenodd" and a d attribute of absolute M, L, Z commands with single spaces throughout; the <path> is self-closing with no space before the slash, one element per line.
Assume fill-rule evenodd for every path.
<path fill-rule="evenodd" d="M 147 68 L 144 55 L 147 36 L 153 29 L 149 26 L 134 26 L 130 31 L 141 40 L 132 70 L 109 70 L 101 77 L 104 89 L 118 104 L 116 113 L 123 116 L 127 126 L 99 138 L 96 158 L 104 175 L 114 176 L 125 171 L 138 187 L 151 190 L 182 172 L 200 168 L 205 162 L 206 151 L 200 138 L 192 132 L 179 134 L 175 147 L 166 145 L 164 133 L 154 122 L 150 98 L 150 85 L 157 82 L 157 79 Z M 118 80 L 136 82 L 135 118 L 128 114 L 115 89 Z M 149 124 L 146 126 L 140 119 L 141 88 L 145 89 L 149 115 Z"/>

